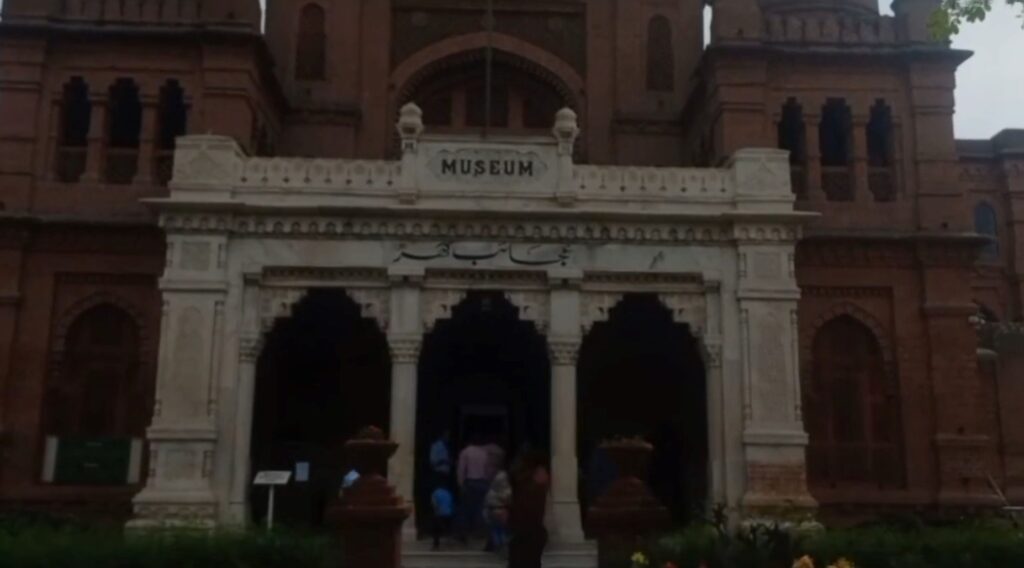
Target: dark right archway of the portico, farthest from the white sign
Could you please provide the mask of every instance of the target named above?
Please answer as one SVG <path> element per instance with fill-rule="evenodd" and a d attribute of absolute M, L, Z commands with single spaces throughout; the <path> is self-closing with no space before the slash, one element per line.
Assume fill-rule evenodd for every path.
<path fill-rule="evenodd" d="M 601 440 L 639 436 L 654 445 L 649 484 L 684 523 L 708 496 L 708 406 L 697 339 L 655 295 L 627 295 L 584 339 L 578 432 L 584 511 L 611 473 Z"/>

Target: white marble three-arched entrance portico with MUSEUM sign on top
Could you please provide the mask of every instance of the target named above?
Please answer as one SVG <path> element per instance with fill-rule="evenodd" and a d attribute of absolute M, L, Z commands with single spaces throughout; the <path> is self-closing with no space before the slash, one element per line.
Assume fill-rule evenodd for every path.
<path fill-rule="evenodd" d="M 582 537 L 577 354 L 626 293 L 656 294 L 699 337 L 708 370 L 711 499 L 810 506 L 800 409 L 788 161 L 723 169 L 583 166 L 575 117 L 550 138 L 431 136 L 398 125 L 400 161 L 261 159 L 230 139 L 179 140 L 167 233 L 150 472 L 139 525 L 248 516 L 255 362 L 279 317 L 337 287 L 386 331 L 390 475 L 412 495 L 424 334 L 469 290 L 500 290 L 550 347 L 555 537 Z M 624 388 L 628 386 L 624 385 Z"/>

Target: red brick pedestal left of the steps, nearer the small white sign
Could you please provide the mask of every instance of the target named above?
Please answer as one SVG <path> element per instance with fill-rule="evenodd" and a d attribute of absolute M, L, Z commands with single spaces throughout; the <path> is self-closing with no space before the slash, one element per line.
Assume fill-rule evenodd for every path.
<path fill-rule="evenodd" d="M 368 428 L 345 444 L 359 480 L 341 497 L 333 515 L 341 532 L 345 568 L 398 568 L 401 525 L 412 510 L 384 475 L 398 444 Z"/>

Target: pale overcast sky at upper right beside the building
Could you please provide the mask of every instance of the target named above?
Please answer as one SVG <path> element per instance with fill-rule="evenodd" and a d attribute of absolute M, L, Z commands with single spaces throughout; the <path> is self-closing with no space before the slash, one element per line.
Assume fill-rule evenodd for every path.
<path fill-rule="evenodd" d="M 888 11 L 888 0 L 882 1 Z M 975 53 L 956 77 L 959 138 L 987 138 L 1004 128 L 1024 128 L 1024 29 L 1018 12 L 1002 0 L 993 3 L 988 19 L 965 27 L 953 41 L 955 47 Z"/>

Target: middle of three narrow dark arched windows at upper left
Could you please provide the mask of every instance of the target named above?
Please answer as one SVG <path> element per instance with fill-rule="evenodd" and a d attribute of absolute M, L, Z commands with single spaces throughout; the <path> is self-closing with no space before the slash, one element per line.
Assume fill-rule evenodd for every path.
<path fill-rule="evenodd" d="M 138 172 L 138 146 L 142 131 L 142 102 L 138 96 L 138 85 L 131 79 L 118 79 L 111 87 L 110 110 L 106 181 L 131 183 Z"/>

